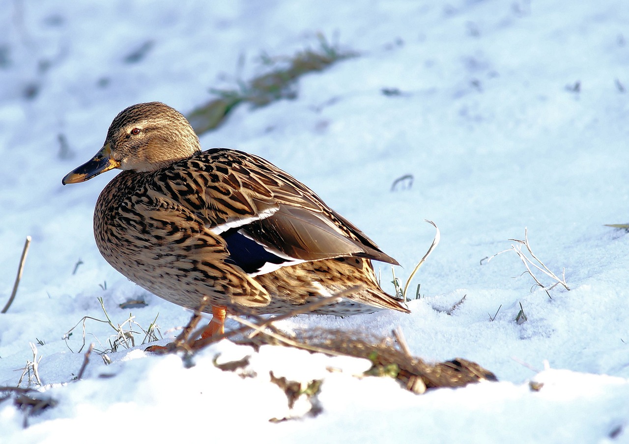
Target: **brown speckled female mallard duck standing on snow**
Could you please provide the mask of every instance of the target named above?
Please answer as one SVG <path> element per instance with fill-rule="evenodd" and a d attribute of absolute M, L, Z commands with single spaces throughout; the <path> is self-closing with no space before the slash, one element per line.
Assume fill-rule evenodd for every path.
<path fill-rule="evenodd" d="M 167 301 L 198 308 L 207 297 L 209 334 L 222 333 L 226 311 L 287 313 L 359 284 L 315 313 L 409 312 L 382 291 L 370 261 L 399 265 L 394 258 L 263 158 L 201 152 L 186 118 L 163 103 L 118 114 L 103 148 L 62 183 L 114 168 L 123 172 L 94 210 L 98 249 L 114 269 Z"/>

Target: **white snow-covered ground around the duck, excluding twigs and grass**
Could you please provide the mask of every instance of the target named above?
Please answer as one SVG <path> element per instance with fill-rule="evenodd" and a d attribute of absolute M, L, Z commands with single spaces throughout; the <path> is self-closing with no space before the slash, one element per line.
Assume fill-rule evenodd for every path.
<path fill-rule="evenodd" d="M 33 241 L 16 301 L 0 314 L 0 386 L 16 386 L 35 343 L 58 404 L 23 429 L 23 414 L 1 402 L 0 441 L 629 442 L 629 235 L 603 226 L 629 221 L 628 25 L 624 0 L 6 0 L 0 308 L 24 239 Z M 111 353 L 109 365 L 93 354 L 71 382 L 83 362 L 81 326 L 67 343 L 62 336 L 83 316 L 104 319 L 97 297 L 114 323 L 131 311 L 146 327 L 159 313 L 167 331 L 190 313 L 99 255 L 92 211 L 113 173 L 67 187 L 61 178 L 101 147 L 126 106 L 158 100 L 187 113 L 209 88 L 264 72 L 262 53 L 316 48 L 319 32 L 360 57 L 301 79 L 296 100 L 238 108 L 201 143 L 295 175 L 397 258 L 402 281 L 432 241 L 423 219 L 442 240 L 412 284 L 422 296 L 413 313 L 282 325 L 383 335 L 400 326 L 413 354 L 467 358 L 500 382 L 418 396 L 391 379 L 352 377 L 369 367 L 362 360 L 226 342 L 190 369 L 144 347 Z M 412 187 L 391 191 L 405 174 Z M 481 265 L 525 228 L 551 270 L 565 267 L 571 291 L 531 291 L 515 252 Z M 390 276 L 382 267 L 392 292 Z M 129 299 L 148 306 L 119 308 Z M 86 323 L 96 348 L 111 333 Z M 252 355 L 257 377 L 221 371 L 217 353 L 225 362 Z M 288 413 L 269 370 L 323 379 L 322 413 L 270 423 Z"/>

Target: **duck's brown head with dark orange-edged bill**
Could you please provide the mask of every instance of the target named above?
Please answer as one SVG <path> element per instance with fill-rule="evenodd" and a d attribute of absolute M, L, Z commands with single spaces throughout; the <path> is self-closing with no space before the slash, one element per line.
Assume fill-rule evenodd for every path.
<path fill-rule="evenodd" d="M 179 111 L 160 102 L 138 103 L 114 118 L 103 148 L 65 175 L 62 184 L 84 182 L 114 168 L 155 171 L 199 151 L 199 138 Z"/>

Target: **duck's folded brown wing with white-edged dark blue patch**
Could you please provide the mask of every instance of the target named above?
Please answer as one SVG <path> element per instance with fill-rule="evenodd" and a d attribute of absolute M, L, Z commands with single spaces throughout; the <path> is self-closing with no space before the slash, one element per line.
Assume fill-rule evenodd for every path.
<path fill-rule="evenodd" d="M 209 150 L 162 170 L 164 194 L 201 218 L 251 275 L 312 260 L 357 256 L 398 264 L 316 194 L 266 160 Z"/>

